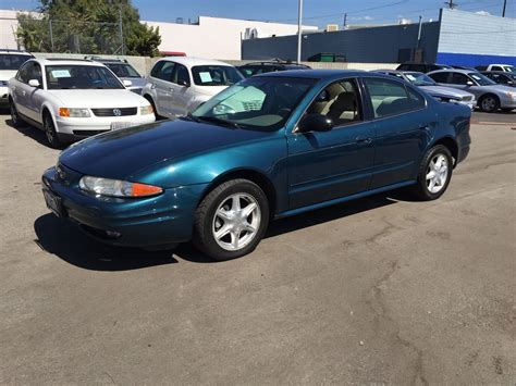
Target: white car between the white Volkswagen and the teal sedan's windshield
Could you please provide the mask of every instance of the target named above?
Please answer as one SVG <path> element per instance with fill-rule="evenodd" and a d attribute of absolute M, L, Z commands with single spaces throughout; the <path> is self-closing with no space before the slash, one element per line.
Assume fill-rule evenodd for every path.
<path fill-rule="evenodd" d="M 214 60 L 170 57 L 156 62 L 142 95 L 160 116 L 185 115 L 244 77 Z"/>

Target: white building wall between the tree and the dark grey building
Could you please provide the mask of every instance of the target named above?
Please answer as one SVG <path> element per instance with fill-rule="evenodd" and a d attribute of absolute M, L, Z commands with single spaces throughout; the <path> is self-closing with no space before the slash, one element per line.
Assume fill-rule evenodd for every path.
<path fill-rule="evenodd" d="M 247 28 L 257 28 L 263 36 L 283 36 L 297 33 L 295 24 L 265 23 L 233 18 L 200 16 L 198 24 L 143 22 L 159 27 L 160 51 L 180 51 L 188 57 L 241 59 L 241 39 Z M 304 26 L 304 30 L 317 30 Z"/>

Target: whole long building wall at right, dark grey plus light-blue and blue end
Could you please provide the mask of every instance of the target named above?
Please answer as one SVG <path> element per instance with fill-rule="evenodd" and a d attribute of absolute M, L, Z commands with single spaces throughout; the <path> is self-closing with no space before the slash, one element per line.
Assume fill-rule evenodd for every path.
<path fill-rule="evenodd" d="M 305 34 L 302 59 L 331 52 L 348 62 L 397 63 L 400 50 L 416 48 L 417 34 L 417 24 Z M 429 63 L 516 64 L 516 20 L 444 9 L 439 22 L 422 24 L 419 47 Z M 296 52 L 297 36 L 242 42 L 244 60 L 295 60 Z"/>

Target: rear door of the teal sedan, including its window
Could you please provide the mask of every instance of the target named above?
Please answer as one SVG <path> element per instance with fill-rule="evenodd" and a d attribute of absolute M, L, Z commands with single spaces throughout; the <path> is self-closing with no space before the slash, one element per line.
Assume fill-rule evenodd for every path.
<path fill-rule="evenodd" d="M 414 179 L 438 122 L 419 91 L 401 82 L 364 78 L 374 122 L 371 189 Z"/>

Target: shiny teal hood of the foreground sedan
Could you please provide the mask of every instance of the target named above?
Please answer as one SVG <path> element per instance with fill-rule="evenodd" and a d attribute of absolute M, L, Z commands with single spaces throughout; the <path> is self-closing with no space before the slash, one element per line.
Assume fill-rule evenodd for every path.
<path fill-rule="evenodd" d="M 71 146 L 59 161 L 82 174 L 124 179 L 159 162 L 257 140 L 271 133 L 186 120 L 101 134 Z"/>

